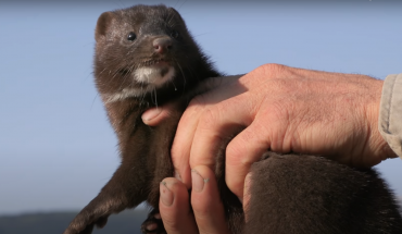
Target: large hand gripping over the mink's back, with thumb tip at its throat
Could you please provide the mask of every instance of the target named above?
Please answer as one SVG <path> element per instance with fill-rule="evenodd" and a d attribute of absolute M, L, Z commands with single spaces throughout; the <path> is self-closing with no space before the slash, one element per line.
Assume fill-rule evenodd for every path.
<path fill-rule="evenodd" d="M 191 186 L 190 168 L 214 168 L 222 143 L 225 180 L 240 199 L 246 174 L 266 150 L 324 155 L 352 167 L 372 167 L 397 157 L 378 131 L 382 81 L 266 64 L 196 97 L 179 122 L 172 160 Z M 149 110 L 146 124 L 155 125 Z"/>

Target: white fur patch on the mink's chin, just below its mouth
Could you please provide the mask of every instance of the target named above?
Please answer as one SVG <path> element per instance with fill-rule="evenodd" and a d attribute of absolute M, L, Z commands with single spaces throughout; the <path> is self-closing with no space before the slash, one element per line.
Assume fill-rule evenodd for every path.
<path fill-rule="evenodd" d="M 171 81 L 175 75 L 175 67 L 140 67 L 134 73 L 134 78 L 138 83 L 160 87 Z"/>

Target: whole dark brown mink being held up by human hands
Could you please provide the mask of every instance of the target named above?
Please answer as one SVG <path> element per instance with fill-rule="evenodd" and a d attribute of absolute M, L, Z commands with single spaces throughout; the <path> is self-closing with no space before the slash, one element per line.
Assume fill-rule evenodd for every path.
<path fill-rule="evenodd" d="M 91 233 L 108 217 L 148 201 L 154 210 L 143 233 L 166 233 L 158 213 L 160 182 L 173 175 L 171 146 L 188 101 L 222 76 L 201 52 L 178 12 L 136 5 L 101 14 L 96 27 L 95 77 L 118 137 L 122 163 L 64 234 Z M 173 102 L 176 112 L 156 127 L 141 114 Z M 225 144 L 223 143 L 223 146 Z M 225 147 L 216 178 L 229 230 L 240 233 L 402 233 L 395 199 L 374 170 L 356 170 L 315 156 L 266 152 L 252 167 L 244 221 L 224 178 Z M 147 230 L 155 223 L 154 230 Z"/>

